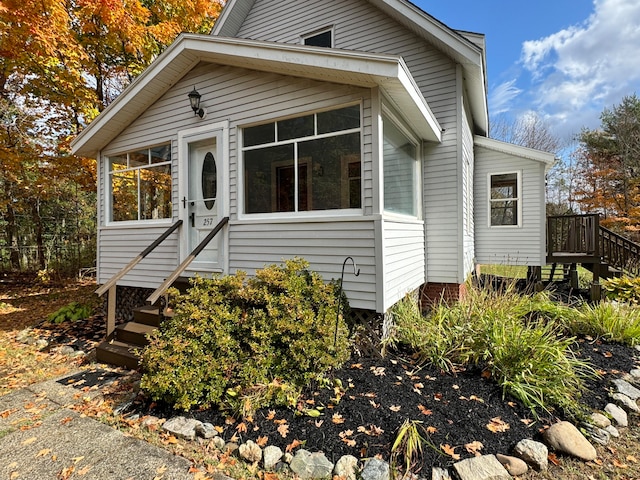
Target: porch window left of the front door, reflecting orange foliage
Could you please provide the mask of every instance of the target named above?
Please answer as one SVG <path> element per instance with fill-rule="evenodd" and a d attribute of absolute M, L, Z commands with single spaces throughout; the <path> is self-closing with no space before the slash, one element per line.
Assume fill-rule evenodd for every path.
<path fill-rule="evenodd" d="M 171 218 L 171 145 L 107 159 L 112 222 Z"/>

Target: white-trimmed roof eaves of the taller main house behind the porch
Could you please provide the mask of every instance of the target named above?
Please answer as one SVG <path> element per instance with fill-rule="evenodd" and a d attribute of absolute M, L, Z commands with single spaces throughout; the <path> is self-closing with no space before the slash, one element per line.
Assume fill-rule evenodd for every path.
<path fill-rule="evenodd" d="M 489 114 L 484 36 L 453 30 L 407 0 L 367 1 L 462 66 L 473 120 L 480 132 L 487 133 Z M 254 3 L 255 0 L 228 0 L 211 34 L 235 37 Z"/>

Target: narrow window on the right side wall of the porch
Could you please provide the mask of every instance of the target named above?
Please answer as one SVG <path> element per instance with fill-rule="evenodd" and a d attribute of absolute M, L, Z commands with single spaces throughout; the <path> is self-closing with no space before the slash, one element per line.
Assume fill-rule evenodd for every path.
<path fill-rule="evenodd" d="M 384 209 L 418 216 L 418 156 L 416 144 L 388 117 L 382 117 Z"/>

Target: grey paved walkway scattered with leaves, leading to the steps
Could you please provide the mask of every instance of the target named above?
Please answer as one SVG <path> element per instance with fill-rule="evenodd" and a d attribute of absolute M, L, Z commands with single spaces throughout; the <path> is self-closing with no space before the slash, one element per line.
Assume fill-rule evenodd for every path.
<path fill-rule="evenodd" d="M 1 479 L 193 479 L 188 460 L 69 409 L 100 392 L 65 383 L 49 380 L 0 397 Z"/>

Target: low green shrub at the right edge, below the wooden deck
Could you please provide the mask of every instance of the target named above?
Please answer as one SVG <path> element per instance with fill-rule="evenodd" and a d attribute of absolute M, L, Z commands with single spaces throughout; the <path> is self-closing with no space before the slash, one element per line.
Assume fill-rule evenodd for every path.
<path fill-rule="evenodd" d="M 625 303 L 584 304 L 567 324 L 574 335 L 592 335 L 627 345 L 640 344 L 640 307 Z"/>

